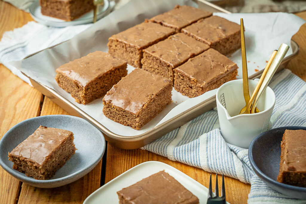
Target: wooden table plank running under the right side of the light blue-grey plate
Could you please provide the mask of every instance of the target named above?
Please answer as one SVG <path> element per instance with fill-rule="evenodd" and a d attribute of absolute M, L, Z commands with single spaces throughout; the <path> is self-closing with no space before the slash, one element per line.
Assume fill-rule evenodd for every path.
<path fill-rule="evenodd" d="M 69 115 L 49 98 L 45 97 L 40 115 Z M 77 147 L 76 147 L 77 148 Z M 102 161 L 79 180 L 57 188 L 37 188 L 22 184 L 18 203 L 82 203 L 100 187 Z"/>

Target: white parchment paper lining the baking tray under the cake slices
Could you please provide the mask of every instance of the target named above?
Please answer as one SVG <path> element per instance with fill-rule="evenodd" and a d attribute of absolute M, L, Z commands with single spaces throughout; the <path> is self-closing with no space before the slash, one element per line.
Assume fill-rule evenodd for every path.
<path fill-rule="evenodd" d="M 208 91 L 195 98 L 188 98 L 173 90 L 173 102 L 143 128 L 134 130 L 105 117 L 102 112 L 102 98 L 87 105 L 76 103 L 70 94 L 57 85 L 54 79 L 56 75 L 55 69 L 60 65 L 96 50 L 107 52 L 108 48 L 106 44 L 111 35 L 139 24 L 146 18 L 151 18 L 157 14 L 171 10 L 176 4 L 196 6 L 194 2 L 184 0 L 132 0 L 125 6 L 122 6 L 120 9 L 115 10 L 99 20 L 84 32 L 76 35 L 71 40 L 53 48 L 43 50 L 23 61 L 13 62 L 13 64 L 32 79 L 53 88 L 110 131 L 124 136 L 142 134 L 215 95 L 216 90 Z M 269 59 L 273 50 L 278 49 L 281 43 L 286 43 L 290 46 L 292 35 L 305 23 L 303 19 L 287 13 L 214 13 L 214 15 L 224 17 L 238 24 L 240 24 L 241 17 L 244 19 L 249 75 L 254 74 L 256 72 L 255 69 L 264 69 L 266 60 Z M 292 50 L 290 49 L 287 55 L 291 53 Z M 241 50 L 237 50 L 230 58 L 241 68 Z M 128 73 L 133 69 L 132 66 L 128 66 Z M 237 78 L 241 77 L 241 69 L 238 69 Z"/>

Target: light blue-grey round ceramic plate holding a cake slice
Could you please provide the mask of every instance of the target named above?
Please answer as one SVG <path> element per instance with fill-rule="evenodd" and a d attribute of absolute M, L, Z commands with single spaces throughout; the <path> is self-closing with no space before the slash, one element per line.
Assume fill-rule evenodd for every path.
<path fill-rule="evenodd" d="M 73 132 L 76 153 L 49 180 L 36 180 L 13 169 L 8 152 L 31 135 L 39 125 Z M 90 172 L 101 160 L 105 150 L 102 132 L 80 117 L 47 115 L 27 119 L 9 129 L 0 140 L 0 165 L 9 174 L 35 187 L 53 188 L 72 183 Z"/>

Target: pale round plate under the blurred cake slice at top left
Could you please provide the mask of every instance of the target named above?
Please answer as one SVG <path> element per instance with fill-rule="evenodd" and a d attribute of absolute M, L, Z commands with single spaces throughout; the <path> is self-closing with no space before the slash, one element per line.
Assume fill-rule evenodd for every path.
<path fill-rule="evenodd" d="M 97 13 L 97 20 L 109 14 L 111 11 L 111 7 L 112 6 L 110 6 L 109 0 L 104 0 L 104 6 L 99 7 L 99 12 Z M 39 0 L 33 2 L 33 4 L 30 6 L 30 15 L 38 23 L 47 25 L 47 26 L 52 26 L 52 27 L 66 27 L 69 25 L 92 23 L 93 16 L 94 16 L 93 14 L 94 12 L 93 10 L 91 10 L 75 20 L 65 21 L 65 20 L 53 18 L 50 16 L 44 16 L 41 13 L 40 9 L 41 7 L 39 5 Z"/>

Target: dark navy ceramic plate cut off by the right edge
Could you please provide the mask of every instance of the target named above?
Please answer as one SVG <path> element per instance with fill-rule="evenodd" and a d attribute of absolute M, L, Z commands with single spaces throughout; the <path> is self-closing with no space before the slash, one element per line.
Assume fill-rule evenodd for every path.
<path fill-rule="evenodd" d="M 292 198 L 306 199 L 306 187 L 276 181 L 281 161 L 281 141 L 285 130 L 306 130 L 306 127 L 281 127 L 261 133 L 251 142 L 248 157 L 257 176 L 268 186 Z"/>

